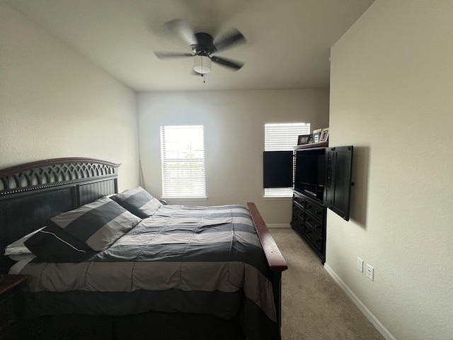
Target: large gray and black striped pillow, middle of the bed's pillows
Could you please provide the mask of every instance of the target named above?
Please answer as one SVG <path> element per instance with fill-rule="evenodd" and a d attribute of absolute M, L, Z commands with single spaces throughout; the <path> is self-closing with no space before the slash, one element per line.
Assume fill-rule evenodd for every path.
<path fill-rule="evenodd" d="M 52 217 L 49 225 L 63 228 L 94 251 L 103 251 L 141 221 L 114 200 L 103 197 Z"/>

